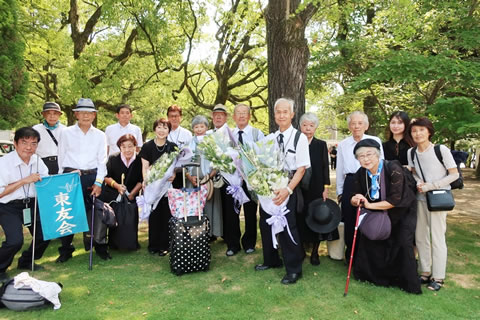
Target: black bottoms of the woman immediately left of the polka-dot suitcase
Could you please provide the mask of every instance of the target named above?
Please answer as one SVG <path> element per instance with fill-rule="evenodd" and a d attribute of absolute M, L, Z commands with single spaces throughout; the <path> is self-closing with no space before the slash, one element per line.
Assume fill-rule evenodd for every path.
<path fill-rule="evenodd" d="M 169 225 L 172 215 L 168 198 L 162 197 L 148 217 L 148 250 L 169 251 Z"/>

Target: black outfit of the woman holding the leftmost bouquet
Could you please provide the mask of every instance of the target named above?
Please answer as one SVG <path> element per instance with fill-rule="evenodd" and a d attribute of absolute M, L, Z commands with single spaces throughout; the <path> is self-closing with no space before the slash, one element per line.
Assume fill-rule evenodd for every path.
<path fill-rule="evenodd" d="M 164 153 L 171 153 L 175 150 L 177 145 L 167 140 L 162 146 L 158 147 L 154 139 L 148 141 L 142 146 L 139 156 L 147 160 L 150 165 L 160 158 Z M 180 183 L 180 185 L 179 185 Z M 173 186 L 178 188 L 182 186 L 181 176 L 177 175 L 173 182 Z M 170 208 L 168 206 L 168 198 L 164 196 L 158 205 L 148 217 L 148 250 L 151 253 L 157 253 L 169 250 L 169 227 L 168 222 L 171 218 Z"/>

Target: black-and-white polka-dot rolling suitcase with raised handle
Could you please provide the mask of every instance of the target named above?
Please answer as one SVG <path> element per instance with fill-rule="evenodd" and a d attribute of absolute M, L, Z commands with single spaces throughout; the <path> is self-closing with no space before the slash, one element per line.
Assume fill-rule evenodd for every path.
<path fill-rule="evenodd" d="M 184 187 L 185 168 L 189 166 L 197 167 L 198 177 L 198 164 L 184 165 L 182 168 Z M 190 272 L 207 271 L 211 260 L 210 223 L 208 218 L 202 215 L 203 206 L 200 192 L 198 192 L 196 203 L 197 216 L 187 216 L 187 204 L 194 205 L 193 202 L 186 201 L 184 192 L 184 216 L 182 218 L 174 216 L 170 219 L 170 269 L 177 276 Z"/>

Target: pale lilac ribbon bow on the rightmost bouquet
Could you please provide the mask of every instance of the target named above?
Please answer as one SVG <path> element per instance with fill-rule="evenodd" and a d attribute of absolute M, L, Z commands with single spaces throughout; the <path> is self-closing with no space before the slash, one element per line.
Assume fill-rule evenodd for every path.
<path fill-rule="evenodd" d="M 272 199 L 273 198 L 271 197 L 258 196 L 258 200 L 260 201 L 260 205 L 262 206 L 262 209 L 266 213 L 271 215 L 271 217 L 267 219 L 267 223 L 272 228 L 273 247 L 275 249 L 278 248 L 276 235 L 280 232 L 283 232 L 285 230 L 285 227 L 287 228 L 288 235 L 290 236 L 290 239 L 292 240 L 292 242 L 297 244 L 295 242 L 295 239 L 293 239 L 292 233 L 290 232 L 290 227 L 288 226 L 287 218 L 285 217 L 285 215 L 290 212 L 290 210 L 287 208 L 289 197 L 279 206 L 273 204 Z"/>

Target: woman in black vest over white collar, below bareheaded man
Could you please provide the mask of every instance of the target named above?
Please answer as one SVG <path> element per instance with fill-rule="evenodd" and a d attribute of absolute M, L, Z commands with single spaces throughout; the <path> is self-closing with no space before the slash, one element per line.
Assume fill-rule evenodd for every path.
<path fill-rule="evenodd" d="M 111 202 L 118 198 L 118 195 L 127 193 L 128 201 L 135 206 L 135 196 L 142 188 L 142 161 L 136 156 L 137 139 L 131 134 L 121 136 L 117 141 L 120 153 L 110 156 L 107 162 L 107 175 L 104 179 L 102 194 L 100 199 L 104 202 Z M 122 238 L 136 239 L 135 247 L 138 249 L 138 210 L 135 210 L 134 228 L 128 229 L 134 232 L 134 235 L 124 235 Z M 118 230 L 112 228 L 109 230 L 109 246 L 116 248 L 113 239 L 119 235 L 115 234 Z M 117 236 L 117 237 L 116 237 Z"/>

